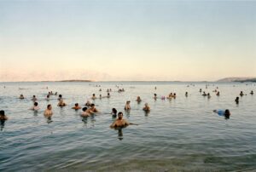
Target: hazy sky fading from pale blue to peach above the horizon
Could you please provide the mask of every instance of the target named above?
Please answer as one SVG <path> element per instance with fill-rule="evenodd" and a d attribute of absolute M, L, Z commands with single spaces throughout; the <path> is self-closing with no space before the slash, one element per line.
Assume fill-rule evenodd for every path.
<path fill-rule="evenodd" d="M 0 0 L 0 82 L 256 77 L 256 1 Z"/>

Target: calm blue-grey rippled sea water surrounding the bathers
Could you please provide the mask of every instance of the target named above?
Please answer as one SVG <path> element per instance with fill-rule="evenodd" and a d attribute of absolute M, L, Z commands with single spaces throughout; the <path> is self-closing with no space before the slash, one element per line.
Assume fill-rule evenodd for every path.
<path fill-rule="evenodd" d="M 0 109 L 9 117 L 0 126 L 0 171 L 256 170 L 256 95 L 249 94 L 256 92 L 255 84 L 208 84 L 206 89 L 206 83 L 172 82 L 0 83 Z M 212 92 L 217 86 L 220 96 Z M 93 93 L 107 95 L 107 89 L 112 89 L 111 98 L 92 101 L 100 114 L 81 118 L 81 111 L 71 109 Z M 50 90 L 63 95 L 67 106 L 58 107 L 55 95 L 45 100 Z M 247 95 L 236 105 L 241 90 Z M 153 99 L 154 93 L 171 92 L 175 100 Z M 20 94 L 26 99 L 18 99 Z M 38 97 L 39 112 L 28 110 L 32 95 Z M 131 100 L 131 112 L 124 112 L 126 100 Z M 146 102 L 148 114 L 142 110 Z M 44 118 L 47 104 L 53 106 L 51 123 Z M 110 129 L 113 107 L 139 125 Z M 214 109 L 230 109 L 230 119 Z"/>

